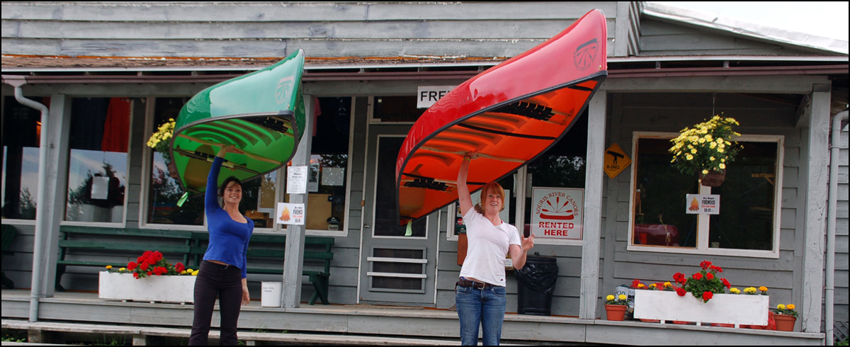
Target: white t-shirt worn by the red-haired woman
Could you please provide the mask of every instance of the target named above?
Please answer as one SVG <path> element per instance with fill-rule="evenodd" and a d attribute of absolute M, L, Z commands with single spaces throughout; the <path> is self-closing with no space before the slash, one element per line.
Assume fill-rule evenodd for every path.
<path fill-rule="evenodd" d="M 467 225 L 467 258 L 461 267 L 462 277 L 505 287 L 505 257 L 509 245 L 522 245 L 519 230 L 504 221 L 493 225 L 475 208 L 463 216 Z"/>

